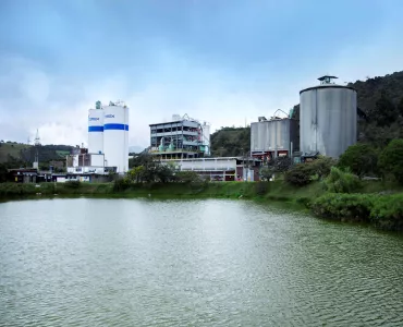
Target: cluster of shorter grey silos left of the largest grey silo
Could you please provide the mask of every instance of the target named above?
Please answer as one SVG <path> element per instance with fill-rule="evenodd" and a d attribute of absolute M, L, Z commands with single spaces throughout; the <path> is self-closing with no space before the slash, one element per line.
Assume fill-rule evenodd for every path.
<path fill-rule="evenodd" d="M 300 149 L 298 121 L 274 116 L 269 120 L 259 117 L 251 123 L 251 155 L 264 161 L 277 157 L 290 156 Z"/>

